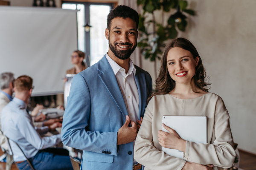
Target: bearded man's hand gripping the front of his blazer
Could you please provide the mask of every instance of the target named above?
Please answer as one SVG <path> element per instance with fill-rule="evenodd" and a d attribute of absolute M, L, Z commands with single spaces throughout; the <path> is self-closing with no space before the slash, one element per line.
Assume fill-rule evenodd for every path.
<path fill-rule="evenodd" d="M 130 117 L 126 116 L 125 124 L 118 130 L 117 133 L 117 143 L 119 144 L 127 144 L 129 142 L 133 142 L 137 136 L 137 126 L 135 122 L 131 121 L 131 127 L 129 127 Z"/>

